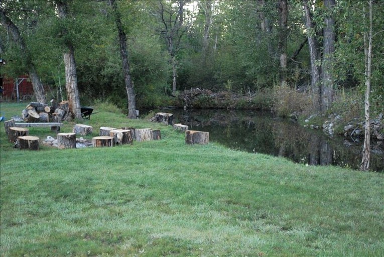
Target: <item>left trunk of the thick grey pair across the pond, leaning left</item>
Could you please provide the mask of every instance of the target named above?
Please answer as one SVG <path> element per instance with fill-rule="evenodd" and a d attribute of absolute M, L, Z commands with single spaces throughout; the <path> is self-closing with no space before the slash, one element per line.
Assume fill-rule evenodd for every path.
<path fill-rule="evenodd" d="M 317 40 L 315 38 L 315 26 L 312 22 L 311 13 L 308 7 L 308 1 L 303 0 L 303 8 L 305 12 L 305 27 L 307 29 L 309 56 L 311 59 L 311 88 L 313 92 L 314 107 L 317 110 L 321 110 L 320 104 L 320 68 L 319 62 L 319 49 L 317 46 Z"/>

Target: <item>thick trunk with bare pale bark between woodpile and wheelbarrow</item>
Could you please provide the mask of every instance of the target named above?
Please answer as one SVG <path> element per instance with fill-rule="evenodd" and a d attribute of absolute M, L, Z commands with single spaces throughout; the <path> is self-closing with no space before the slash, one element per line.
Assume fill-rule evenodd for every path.
<path fill-rule="evenodd" d="M 66 1 L 56 1 L 56 8 L 58 17 L 64 21 L 68 19 L 68 5 Z M 67 28 L 64 27 L 63 34 L 68 33 Z M 65 88 L 67 90 L 67 97 L 69 102 L 69 111 L 73 118 L 81 119 L 81 106 L 79 90 L 77 87 L 77 74 L 76 74 L 76 62 L 75 62 L 75 50 L 70 39 L 67 35 L 65 40 L 65 51 L 64 51 L 64 66 L 65 66 Z"/>

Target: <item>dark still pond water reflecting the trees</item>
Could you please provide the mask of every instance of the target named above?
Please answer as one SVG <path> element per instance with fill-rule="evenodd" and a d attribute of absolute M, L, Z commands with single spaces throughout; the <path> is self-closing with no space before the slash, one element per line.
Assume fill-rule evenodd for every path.
<path fill-rule="evenodd" d="M 228 148 L 281 156 L 309 165 L 359 169 L 363 140 L 330 137 L 293 120 L 253 110 L 155 110 L 174 114 L 175 123 L 209 132 L 209 140 Z M 370 169 L 384 171 L 384 142 L 371 142 Z"/>

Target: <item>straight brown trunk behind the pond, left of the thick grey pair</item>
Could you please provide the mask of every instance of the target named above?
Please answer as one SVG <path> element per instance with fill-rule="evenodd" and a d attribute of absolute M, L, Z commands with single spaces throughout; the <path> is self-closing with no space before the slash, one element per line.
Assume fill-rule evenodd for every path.
<path fill-rule="evenodd" d="M 280 77 L 281 85 L 287 85 L 287 38 L 288 38 L 288 3 L 287 0 L 280 0 Z"/>

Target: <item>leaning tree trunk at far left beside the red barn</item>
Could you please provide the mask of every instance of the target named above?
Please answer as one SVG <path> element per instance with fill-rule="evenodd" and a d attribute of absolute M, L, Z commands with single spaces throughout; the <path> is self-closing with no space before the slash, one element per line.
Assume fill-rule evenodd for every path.
<path fill-rule="evenodd" d="M 25 41 L 19 31 L 19 28 L 7 16 L 7 14 L 3 11 L 3 8 L 0 9 L 0 16 L 2 26 L 4 26 L 4 28 L 6 28 L 11 33 L 14 42 L 19 46 L 21 50 L 21 55 L 23 56 L 23 59 L 26 62 L 28 74 L 32 82 L 36 100 L 38 102 L 45 103 L 46 97 L 43 84 L 41 83 L 40 77 L 36 72 L 36 68 L 32 60 L 32 55 L 25 44 Z"/>

